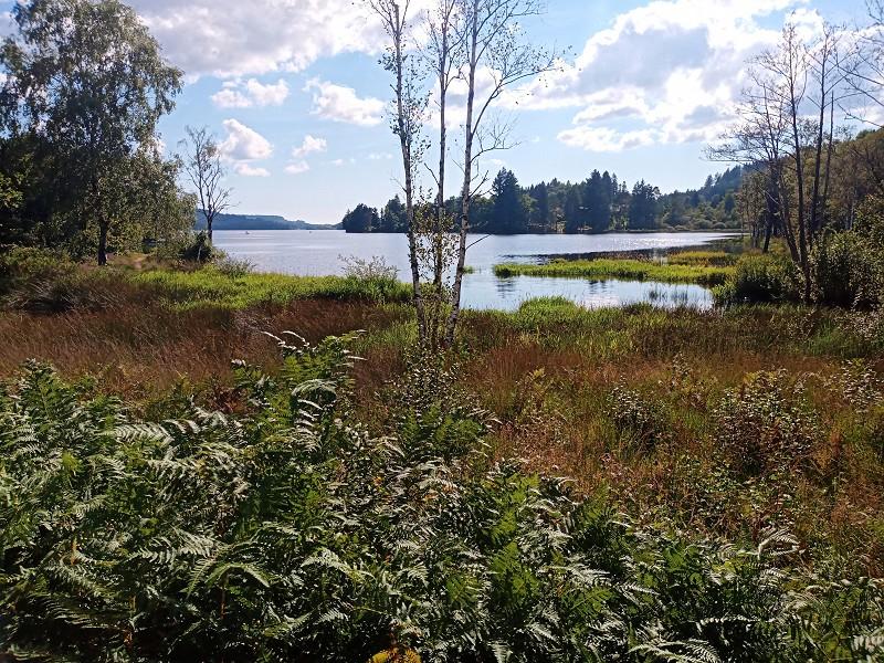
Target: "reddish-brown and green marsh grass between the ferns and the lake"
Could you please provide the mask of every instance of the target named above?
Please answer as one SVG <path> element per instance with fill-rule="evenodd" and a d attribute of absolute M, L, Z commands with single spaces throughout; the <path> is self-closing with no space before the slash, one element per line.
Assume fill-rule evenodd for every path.
<path fill-rule="evenodd" d="M 352 346 L 364 359 L 354 369 L 354 408 L 369 430 L 386 430 L 389 409 L 378 393 L 402 373 L 415 337 L 397 288 L 393 301 L 378 302 L 347 280 L 211 269 L 83 278 L 81 292 L 92 294 L 73 307 L 0 312 L 0 377 L 36 358 L 136 409 L 156 409 L 175 392 L 238 411 L 244 403 L 230 362 L 272 372 L 277 349 L 265 332 L 316 341 L 364 329 Z M 572 476 L 582 493 L 612 495 L 640 520 L 733 540 L 779 525 L 798 535 L 809 560 L 838 558 L 881 575 L 884 345 L 857 320 L 791 305 L 586 309 L 546 297 L 513 313 L 465 312 L 457 379 L 475 394 L 471 404 L 499 422 L 488 442 L 501 457 Z M 797 407 L 813 414 L 817 434 L 800 471 L 766 465 L 740 476 L 716 442 L 715 412 L 753 375 L 775 369 L 806 386 Z M 734 410 L 746 427 L 759 425 L 753 407 Z"/>

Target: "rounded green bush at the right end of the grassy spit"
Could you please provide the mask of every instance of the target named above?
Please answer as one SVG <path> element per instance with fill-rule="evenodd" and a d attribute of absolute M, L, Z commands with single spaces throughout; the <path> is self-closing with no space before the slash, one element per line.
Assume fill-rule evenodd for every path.
<path fill-rule="evenodd" d="M 798 301 L 800 274 L 785 255 L 744 255 L 724 285 L 713 288 L 720 305 Z"/>

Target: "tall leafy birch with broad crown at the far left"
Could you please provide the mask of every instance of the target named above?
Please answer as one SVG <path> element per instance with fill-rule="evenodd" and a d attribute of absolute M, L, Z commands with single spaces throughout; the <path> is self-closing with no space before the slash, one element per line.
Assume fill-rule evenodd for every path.
<path fill-rule="evenodd" d="M 6 94 L 21 99 L 27 129 L 65 164 L 82 228 L 94 229 L 104 265 L 108 236 L 125 222 L 110 211 L 128 190 L 127 169 L 156 140 L 181 72 L 118 0 L 32 0 L 15 3 L 12 18 L 17 34 L 0 53 L 11 80 Z"/>

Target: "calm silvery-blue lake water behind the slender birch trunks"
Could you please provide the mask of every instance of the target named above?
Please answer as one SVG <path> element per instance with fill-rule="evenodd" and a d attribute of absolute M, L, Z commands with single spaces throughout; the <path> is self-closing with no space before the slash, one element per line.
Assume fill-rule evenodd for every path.
<path fill-rule="evenodd" d="M 539 263 L 556 255 L 592 255 L 627 251 L 656 251 L 696 246 L 726 239 L 728 233 L 612 233 L 603 235 L 492 235 L 467 252 L 475 273 L 464 277 L 463 304 L 469 308 L 513 311 L 525 299 L 562 296 L 582 306 L 624 306 L 650 302 L 659 306 L 713 305 L 708 290 L 698 285 L 639 281 L 590 281 L 514 276 L 498 278 L 493 267 L 502 262 Z M 396 265 L 400 278 L 410 277 L 408 241 L 402 234 L 347 234 L 344 231 L 277 230 L 215 231 L 215 245 L 238 259 L 251 261 L 262 272 L 303 276 L 343 274 L 344 259 L 382 256 Z"/>

